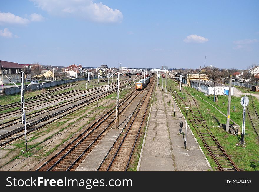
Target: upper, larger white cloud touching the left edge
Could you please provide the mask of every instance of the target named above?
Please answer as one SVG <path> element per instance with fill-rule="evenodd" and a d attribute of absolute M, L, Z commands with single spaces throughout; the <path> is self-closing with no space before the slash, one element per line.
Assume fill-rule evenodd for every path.
<path fill-rule="evenodd" d="M 16 16 L 12 13 L 0 12 L 0 24 L 20 24 L 26 25 L 30 21 L 29 19 Z"/>

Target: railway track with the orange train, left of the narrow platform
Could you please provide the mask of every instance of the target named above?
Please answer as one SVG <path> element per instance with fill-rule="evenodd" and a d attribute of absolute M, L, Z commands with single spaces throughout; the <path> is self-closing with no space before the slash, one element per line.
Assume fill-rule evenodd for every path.
<path fill-rule="evenodd" d="M 134 90 L 120 102 L 119 115 L 123 114 L 138 94 L 140 92 Z M 74 171 L 115 123 L 116 110 L 112 109 L 101 117 L 96 124 L 85 130 L 81 136 L 69 143 L 56 157 L 43 165 L 39 171 Z"/>

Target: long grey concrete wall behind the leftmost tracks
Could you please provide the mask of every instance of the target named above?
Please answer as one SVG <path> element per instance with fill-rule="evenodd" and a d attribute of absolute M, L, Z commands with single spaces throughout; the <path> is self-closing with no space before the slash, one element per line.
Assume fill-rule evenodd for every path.
<path fill-rule="evenodd" d="M 54 82 L 31 84 L 29 87 L 27 87 L 28 85 L 24 85 L 24 88 L 27 87 L 26 90 L 24 90 L 24 91 L 39 90 L 39 89 L 46 88 L 46 87 L 52 87 L 52 86 L 56 86 L 56 85 L 61 85 L 61 84 L 74 82 L 74 81 L 82 81 L 82 80 L 84 80 L 84 78 L 66 79 L 66 80 L 59 80 L 59 81 L 54 81 Z M 4 88 L 4 95 L 11 95 L 11 94 L 20 93 L 20 92 L 21 92 L 21 90 L 18 87 Z"/>

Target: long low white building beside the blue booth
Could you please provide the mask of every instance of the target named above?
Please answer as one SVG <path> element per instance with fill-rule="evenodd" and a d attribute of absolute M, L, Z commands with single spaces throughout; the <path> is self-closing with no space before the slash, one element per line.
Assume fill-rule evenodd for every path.
<path fill-rule="evenodd" d="M 197 80 L 190 80 L 191 87 L 194 89 L 205 93 L 206 95 L 214 95 L 214 83 L 213 82 L 206 82 L 206 81 L 197 81 Z M 222 85 L 219 83 L 215 83 L 215 90 L 216 94 L 218 95 L 228 95 L 228 86 Z M 234 87 L 231 87 L 231 95 L 234 93 Z"/>

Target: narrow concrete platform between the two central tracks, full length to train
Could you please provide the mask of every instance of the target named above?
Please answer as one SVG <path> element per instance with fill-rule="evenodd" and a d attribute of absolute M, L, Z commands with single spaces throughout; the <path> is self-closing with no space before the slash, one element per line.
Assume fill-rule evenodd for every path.
<path fill-rule="evenodd" d="M 132 114 L 137 109 L 144 92 L 141 92 L 132 104 L 125 109 L 125 112 L 119 116 L 119 129 L 116 129 L 116 124 L 113 123 L 109 132 L 101 139 L 94 149 L 84 158 L 82 163 L 75 171 L 98 171 L 106 156 L 109 154 L 113 145 L 119 138 L 121 132 L 127 126 Z M 120 111 L 120 110 L 119 110 Z"/>

